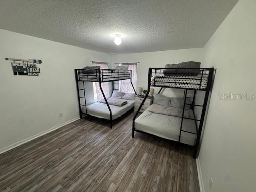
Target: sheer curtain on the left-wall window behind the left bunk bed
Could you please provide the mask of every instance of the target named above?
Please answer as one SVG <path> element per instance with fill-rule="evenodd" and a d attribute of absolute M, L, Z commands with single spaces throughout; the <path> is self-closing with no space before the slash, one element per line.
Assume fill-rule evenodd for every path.
<path fill-rule="evenodd" d="M 108 63 L 92 61 L 92 66 L 100 66 L 101 69 L 107 69 L 108 68 Z M 100 84 L 98 82 L 94 82 L 94 84 L 95 84 L 95 88 L 96 88 L 97 99 L 98 100 L 103 99 L 104 97 L 103 97 L 102 92 L 100 90 Z M 101 87 L 102 87 L 102 90 L 105 94 L 105 97 L 108 98 L 108 96 L 109 96 L 108 82 L 101 83 Z"/>

